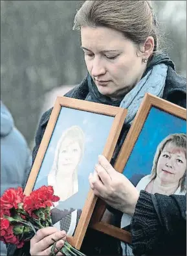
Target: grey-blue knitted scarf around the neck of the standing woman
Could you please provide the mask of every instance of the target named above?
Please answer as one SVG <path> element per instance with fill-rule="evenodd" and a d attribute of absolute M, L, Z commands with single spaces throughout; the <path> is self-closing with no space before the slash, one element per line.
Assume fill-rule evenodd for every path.
<path fill-rule="evenodd" d="M 128 111 L 125 123 L 131 125 L 146 92 L 157 97 L 162 97 L 167 71 L 168 66 L 164 63 L 152 66 L 140 82 L 128 94 L 126 94 L 125 97 L 116 100 L 100 94 L 93 82 L 93 79 L 88 75 L 87 81 L 89 94 L 87 94 L 85 100 L 127 109 Z"/>

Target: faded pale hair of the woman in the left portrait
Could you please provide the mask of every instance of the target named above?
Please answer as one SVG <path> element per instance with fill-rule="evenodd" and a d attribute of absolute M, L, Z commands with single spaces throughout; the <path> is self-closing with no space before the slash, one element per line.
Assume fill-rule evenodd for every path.
<path fill-rule="evenodd" d="M 78 142 L 78 145 L 80 146 L 80 149 L 81 149 L 80 160 L 83 157 L 84 144 L 85 144 L 84 133 L 79 126 L 73 125 L 69 127 L 67 130 L 63 131 L 63 133 L 61 134 L 60 140 L 58 141 L 58 144 L 56 146 L 52 170 L 50 171 L 49 174 L 56 175 L 56 172 L 58 172 L 58 157 L 59 157 L 61 145 L 63 144 L 66 138 L 69 138 L 70 144 L 72 142 Z"/>

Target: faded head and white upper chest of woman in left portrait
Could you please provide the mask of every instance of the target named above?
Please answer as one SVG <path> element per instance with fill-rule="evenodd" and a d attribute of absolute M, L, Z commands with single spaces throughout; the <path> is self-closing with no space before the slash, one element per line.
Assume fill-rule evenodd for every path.
<path fill-rule="evenodd" d="M 78 192 L 78 165 L 84 151 L 84 134 L 78 126 L 72 126 L 61 135 L 57 144 L 48 185 L 54 194 L 65 201 Z"/>

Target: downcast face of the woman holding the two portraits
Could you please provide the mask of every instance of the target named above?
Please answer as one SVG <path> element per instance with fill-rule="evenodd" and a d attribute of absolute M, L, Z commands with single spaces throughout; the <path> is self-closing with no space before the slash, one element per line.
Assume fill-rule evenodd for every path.
<path fill-rule="evenodd" d="M 122 32 L 82 27 L 81 38 L 87 70 L 101 94 L 119 97 L 140 81 L 146 65 L 137 56 L 137 45 Z"/>

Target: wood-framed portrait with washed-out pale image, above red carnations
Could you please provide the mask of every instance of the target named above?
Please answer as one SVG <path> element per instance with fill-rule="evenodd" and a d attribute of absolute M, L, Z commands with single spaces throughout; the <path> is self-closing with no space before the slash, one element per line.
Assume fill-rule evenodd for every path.
<path fill-rule="evenodd" d="M 52 223 L 66 231 L 78 250 L 97 200 L 89 173 L 98 155 L 111 160 L 126 113 L 119 107 L 58 97 L 50 114 L 24 192 L 53 186 L 60 201 L 51 207 Z"/>

